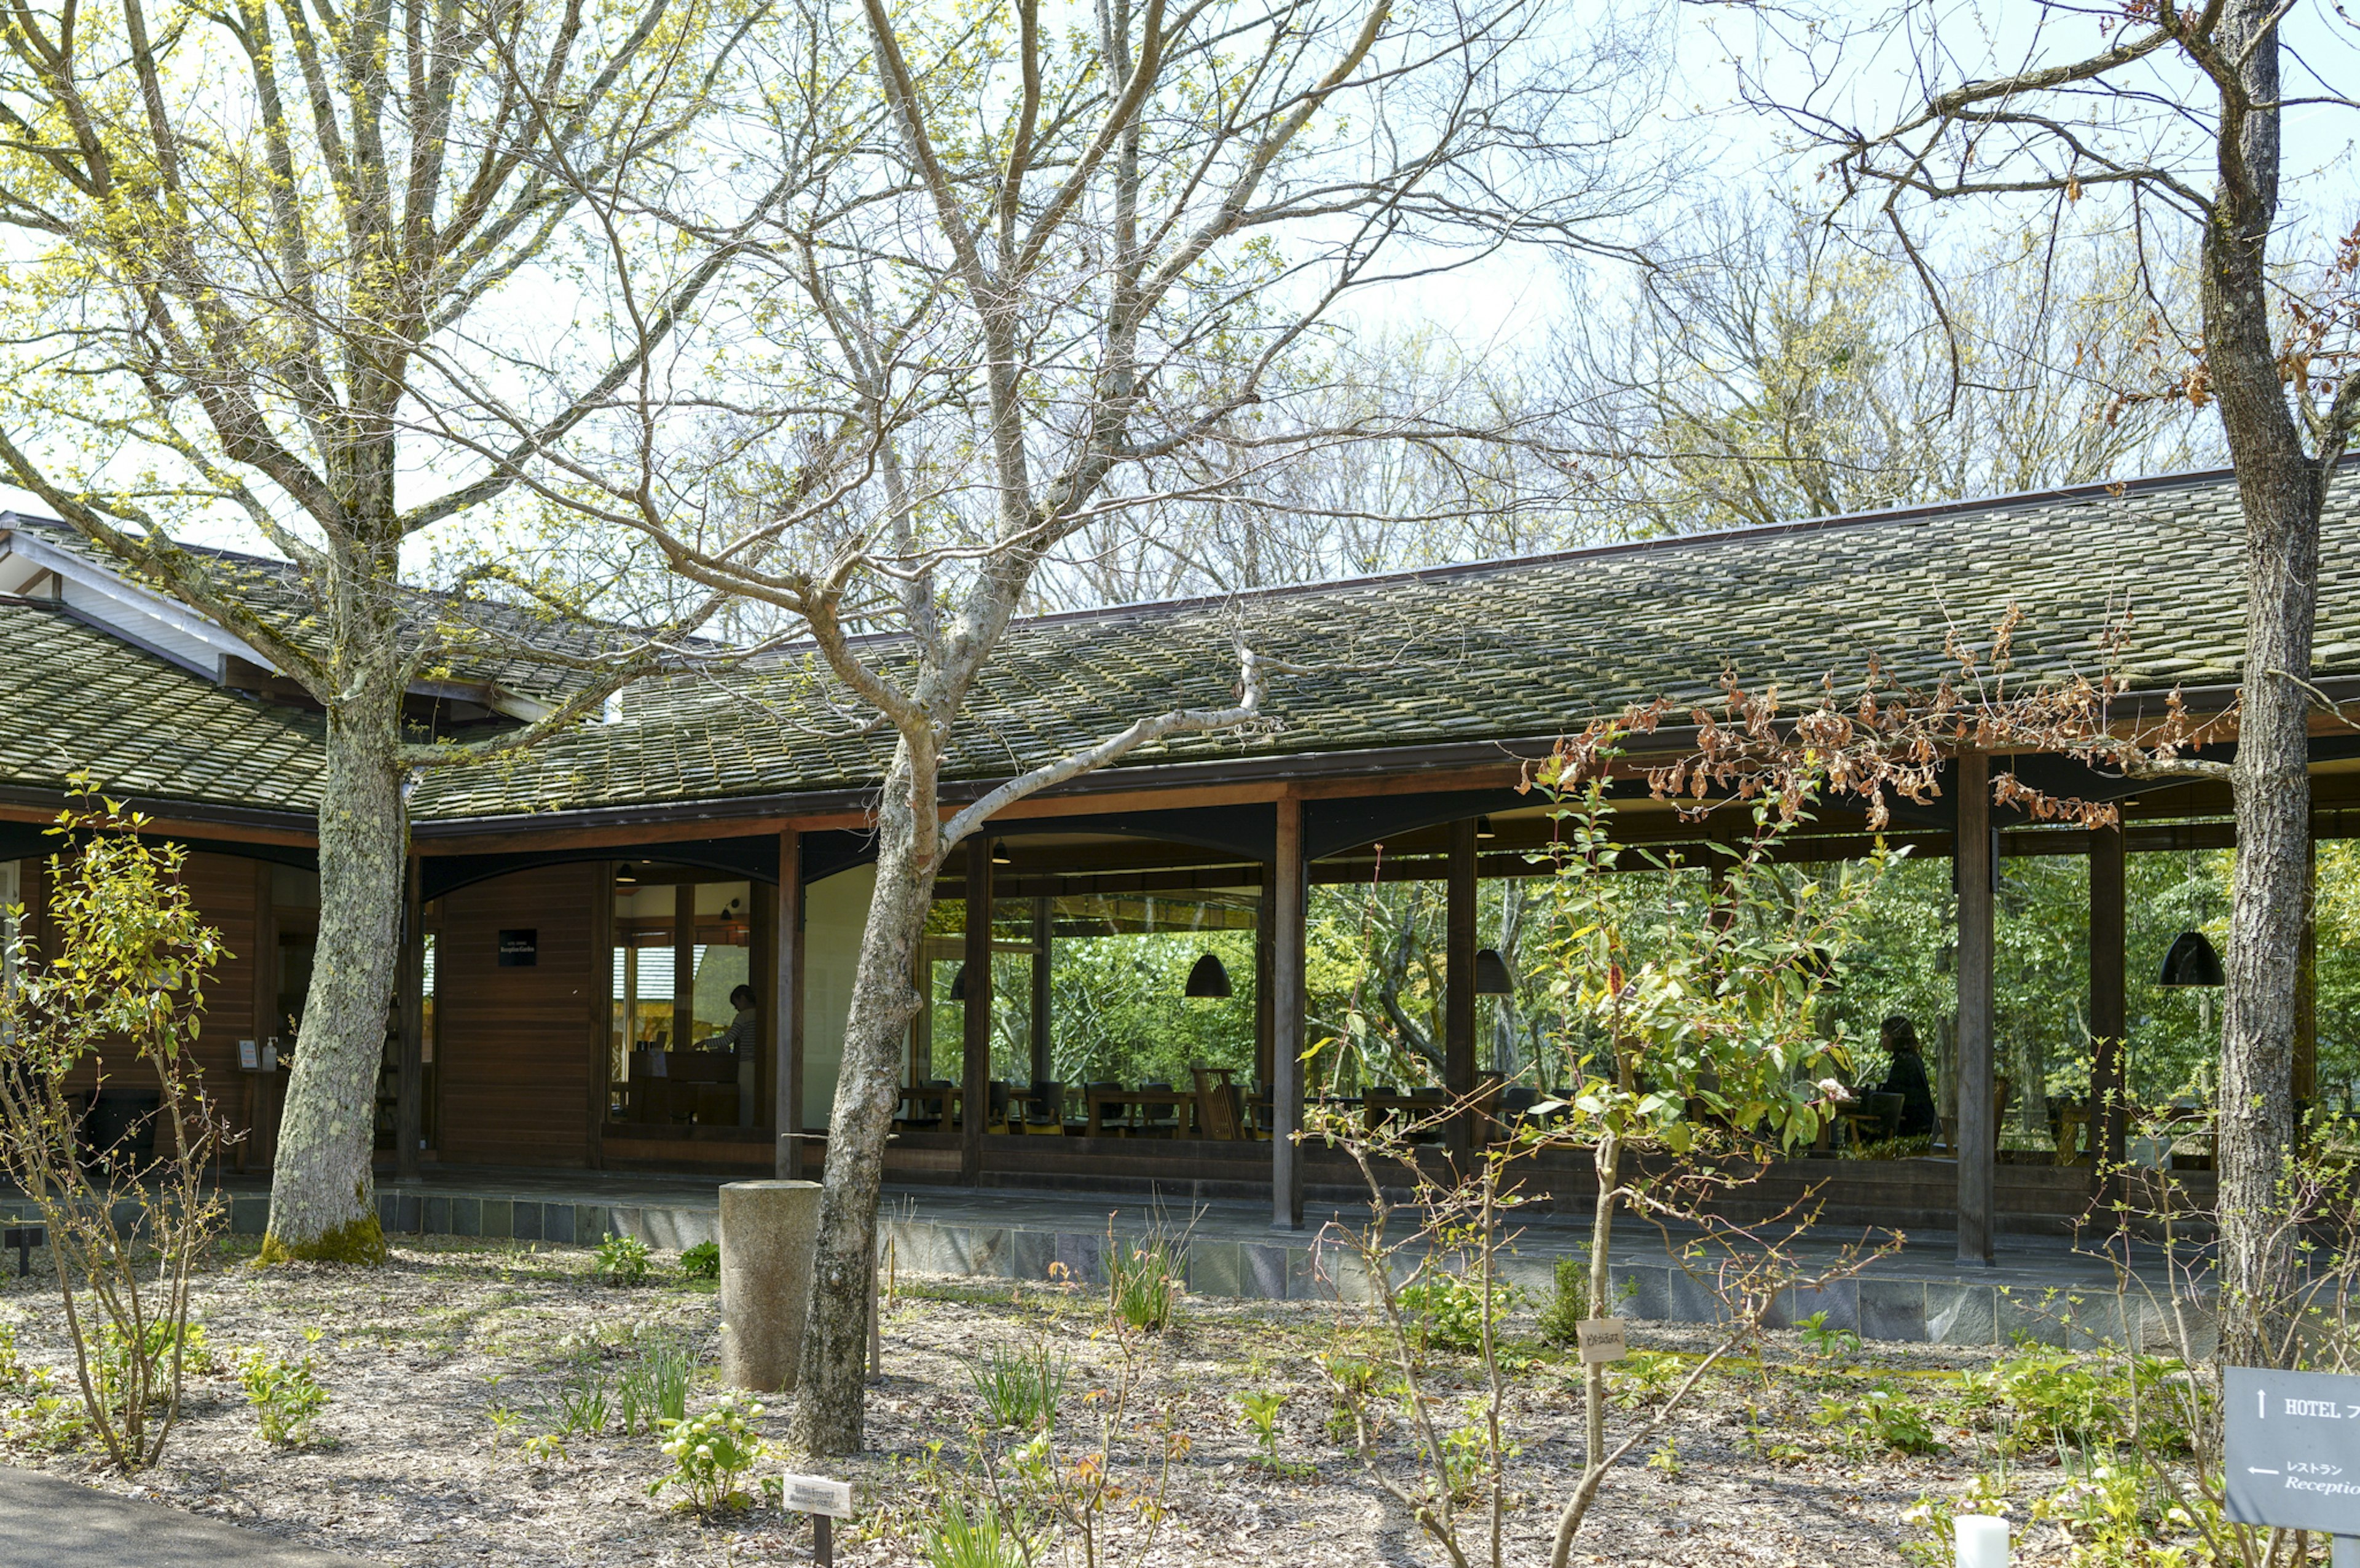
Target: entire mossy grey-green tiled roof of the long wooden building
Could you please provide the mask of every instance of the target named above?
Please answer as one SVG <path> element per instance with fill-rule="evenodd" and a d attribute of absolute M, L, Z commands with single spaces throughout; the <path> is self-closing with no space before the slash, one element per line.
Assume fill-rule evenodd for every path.
<path fill-rule="evenodd" d="M 2322 677 L 2360 677 L 2353 479 L 2327 516 Z M 2145 481 L 1027 620 L 972 693 L 949 776 L 1005 776 L 1140 714 L 1230 700 L 1234 630 L 1310 670 L 1274 681 L 1281 729 L 1175 736 L 1123 766 L 1553 736 L 1633 700 L 1709 698 L 1723 670 L 1801 691 L 1827 672 L 1857 679 L 1874 658 L 1928 684 L 1952 667 L 1945 632 L 1982 641 L 2011 601 L 2025 613 L 2020 672 L 2096 670 L 2105 627 L 2129 615 L 2136 686 L 2233 684 L 2235 486 L 2218 474 Z M 42 691 L 0 736 L 0 785 L 54 780 L 76 759 L 139 792 L 312 799 L 309 722 L 158 672 L 50 611 L 12 606 L 0 622 L 19 681 Z M 894 646 L 876 655 L 890 660 Z M 106 679 L 92 689 L 78 667 Z M 104 703 L 85 714 L 92 691 Z M 857 712 L 809 655 L 649 681 L 616 722 L 500 766 L 437 771 L 413 809 L 467 818 L 859 790 L 876 783 L 892 736 L 861 733 Z"/>

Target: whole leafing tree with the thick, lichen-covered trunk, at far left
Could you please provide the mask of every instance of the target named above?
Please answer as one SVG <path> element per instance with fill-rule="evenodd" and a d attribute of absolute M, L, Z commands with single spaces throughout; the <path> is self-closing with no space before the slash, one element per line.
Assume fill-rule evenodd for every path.
<path fill-rule="evenodd" d="M 406 691 L 463 665 L 472 632 L 399 564 L 668 396 L 654 351 L 727 245 L 642 271 L 628 196 L 687 151 L 725 21 L 706 0 L 0 17 L 0 224 L 19 248 L 0 462 L 326 710 L 319 957 L 267 1257 L 382 1257 L 371 1106 L 406 773 L 526 745 L 663 658 L 663 637 L 578 639 L 529 724 L 430 740 L 404 726 Z M 588 191 L 602 222 L 583 231 Z M 290 566 L 175 545 L 208 512 Z"/>

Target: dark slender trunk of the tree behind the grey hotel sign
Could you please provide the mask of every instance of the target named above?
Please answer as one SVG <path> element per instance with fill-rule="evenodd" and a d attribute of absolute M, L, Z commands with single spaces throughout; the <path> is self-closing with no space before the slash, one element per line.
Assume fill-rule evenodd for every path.
<path fill-rule="evenodd" d="M 2275 104 L 2268 0 L 2230 0 L 2221 42 L 2242 52 L 2242 97 Z M 2282 1177 L 2294 1137 L 2294 997 L 2310 844 L 2308 693 L 2327 474 L 2303 453 L 2268 307 L 2277 215 L 2277 113 L 2223 94 L 2221 186 L 2204 226 L 2204 363 L 2244 509 L 2244 670 L 2237 759 L 2237 870 L 2221 1028 L 2221 1361 L 2273 1365 L 2289 1278 Z M 2296 389 L 2301 396 L 2301 389 Z M 2296 677 L 2296 679 L 2289 679 Z"/>

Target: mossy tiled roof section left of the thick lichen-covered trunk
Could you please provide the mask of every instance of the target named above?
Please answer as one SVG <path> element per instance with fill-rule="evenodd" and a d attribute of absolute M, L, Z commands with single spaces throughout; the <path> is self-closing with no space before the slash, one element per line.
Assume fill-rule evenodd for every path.
<path fill-rule="evenodd" d="M 111 795 L 312 811 L 321 719 L 257 703 L 83 625 L 0 599 L 0 785 L 64 790 L 76 769 Z"/>

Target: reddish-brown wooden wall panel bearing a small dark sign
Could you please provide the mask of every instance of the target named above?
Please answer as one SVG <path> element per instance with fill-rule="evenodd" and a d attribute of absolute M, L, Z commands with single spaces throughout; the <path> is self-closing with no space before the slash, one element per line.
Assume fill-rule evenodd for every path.
<path fill-rule="evenodd" d="M 548 865 L 441 901 L 434 946 L 434 1073 L 444 1160 L 569 1165 L 592 1158 L 607 969 L 607 865 Z M 538 962 L 500 967 L 500 931 L 540 934 Z"/>

